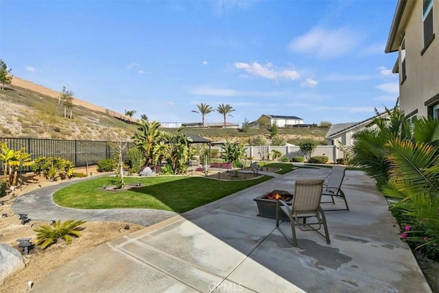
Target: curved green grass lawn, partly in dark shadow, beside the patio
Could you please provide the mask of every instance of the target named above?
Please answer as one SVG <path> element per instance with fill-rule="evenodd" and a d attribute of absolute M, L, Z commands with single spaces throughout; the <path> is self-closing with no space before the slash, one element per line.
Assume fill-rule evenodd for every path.
<path fill-rule="evenodd" d="M 125 183 L 140 182 L 141 187 L 108 191 L 100 187 L 115 185 L 116 178 L 101 177 L 56 191 L 54 202 L 76 209 L 140 208 L 184 213 L 271 178 L 263 176 L 252 180 L 221 181 L 191 176 L 126 177 Z"/>

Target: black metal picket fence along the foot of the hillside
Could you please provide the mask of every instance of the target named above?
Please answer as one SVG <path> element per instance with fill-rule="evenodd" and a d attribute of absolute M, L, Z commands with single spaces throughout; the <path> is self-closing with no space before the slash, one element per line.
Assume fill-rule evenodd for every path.
<path fill-rule="evenodd" d="M 31 155 L 32 160 L 40 156 L 57 156 L 73 162 L 75 167 L 96 165 L 103 159 L 114 158 L 119 154 L 116 142 L 111 141 L 65 141 L 61 139 L 25 139 L 0 137 L 11 150 L 25 148 L 25 152 Z M 125 142 L 122 143 L 125 145 Z M 127 152 L 132 146 L 128 143 L 123 149 L 123 159 L 127 158 Z M 24 167 L 24 172 L 31 171 L 30 167 Z M 0 174 L 3 174 L 3 164 L 0 164 Z"/>

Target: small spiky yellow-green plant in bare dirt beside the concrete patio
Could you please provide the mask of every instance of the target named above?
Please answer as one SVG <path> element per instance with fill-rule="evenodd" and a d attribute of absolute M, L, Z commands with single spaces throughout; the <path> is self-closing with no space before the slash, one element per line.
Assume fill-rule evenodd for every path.
<path fill-rule="evenodd" d="M 64 239 L 66 244 L 69 244 L 72 236 L 80 237 L 79 226 L 84 223 L 85 221 L 82 220 L 67 220 L 64 223 L 58 220 L 53 226 L 42 225 L 40 228 L 34 230 L 36 232 L 36 244 L 41 244 L 41 248 L 45 249 L 47 246 L 56 243 L 60 238 Z"/>

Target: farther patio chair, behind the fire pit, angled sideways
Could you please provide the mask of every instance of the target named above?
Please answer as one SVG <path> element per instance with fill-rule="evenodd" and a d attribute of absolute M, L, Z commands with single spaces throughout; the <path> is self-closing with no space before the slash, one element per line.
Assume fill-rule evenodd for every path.
<path fill-rule="evenodd" d="M 335 204 L 334 197 L 344 200 L 346 204 L 346 209 L 325 209 L 325 211 L 349 211 L 348 202 L 346 201 L 346 196 L 342 191 L 342 183 L 344 179 L 344 174 L 346 172 L 346 167 L 344 166 L 334 166 L 331 169 L 331 174 L 323 187 L 323 196 L 331 196 L 331 201 L 321 202 L 322 204 L 332 203 Z"/>

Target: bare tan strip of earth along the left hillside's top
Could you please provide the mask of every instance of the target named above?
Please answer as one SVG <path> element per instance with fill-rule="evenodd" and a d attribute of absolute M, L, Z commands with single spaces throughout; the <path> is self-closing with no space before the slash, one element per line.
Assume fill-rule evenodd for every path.
<path fill-rule="evenodd" d="M 47 95 L 49 97 L 53 97 L 54 99 L 58 99 L 58 96 L 60 95 L 59 91 L 54 91 L 52 89 L 49 89 L 45 86 L 41 86 L 39 84 L 35 84 L 34 82 L 29 82 L 28 80 L 23 80 L 23 78 L 19 78 L 14 76 L 12 78 L 12 84 L 14 86 L 19 86 L 23 89 L 29 89 L 31 91 L 35 91 L 36 93 L 40 93 L 42 95 Z M 89 102 L 84 101 L 84 99 L 79 99 L 78 97 L 73 98 L 73 104 L 78 106 L 83 106 L 84 108 L 88 108 L 90 110 L 95 110 L 98 112 L 106 113 L 108 115 L 111 115 L 112 117 L 115 117 L 117 119 L 128 121 L 130 123 L 137 123 L 137 119 L 131 118 L 127 115 L 123 115 L 121 113 L 118 113 L 116 111 L 104 108 L 102 106 L 97 106 L 95 104 L 91 104 Z"/>

